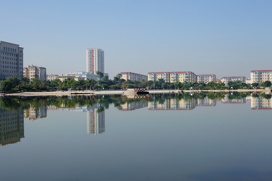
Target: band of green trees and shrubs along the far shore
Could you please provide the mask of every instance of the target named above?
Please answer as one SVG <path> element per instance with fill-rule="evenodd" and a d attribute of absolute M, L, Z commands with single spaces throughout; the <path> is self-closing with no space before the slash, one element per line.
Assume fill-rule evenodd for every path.
<path fill-rule="evenodd" d="M 101 76 L 99 76 L 101 79 Z M 199 89 L 199 90 L 213 90 L 213 89 L 250 89 L 252 87 L 270 87 L 271 82 L 265 81 L 253 84 L 246 84 L 241 81 L 229 81 L 228 86 L 225 86 L 224 82 L 219 81 L 218 83 L 209 82 L 205 83 L 192 83 L 192 82 L 164 82 L 164 79 L 158 79 L 157 81 L 131 81 L 124 80 L 121 78 L 120 74 L 117 74 L 113 80 L 109 79 L 108 76 L 104 76 L 102 80 L 95 81 L 93 79 L 79 80 L 65 79 L 61 81 L 56 79 L 53 81 L 41 81 L 38 78 L 34 78 L 31 81 L 26 77 L 18 78 L 14 76 L 13 78 L 8 78 L 7 80 L 2 80 L 0 82 L 0 88 L 3 91 L 20 91 L 20 90 L 68 90 L 70 88 L 75 90 L 93 90 L 93 89 L 104 89 L 104 90 L 118 90 L 118 89 L 128 89 L 128 88 L 145 88 L 150 87 L 150 89 Z"/>

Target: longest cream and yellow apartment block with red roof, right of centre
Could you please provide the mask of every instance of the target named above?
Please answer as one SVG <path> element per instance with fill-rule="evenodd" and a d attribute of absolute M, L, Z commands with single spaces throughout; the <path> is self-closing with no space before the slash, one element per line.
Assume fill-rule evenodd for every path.
<path fill-rule="evenodd" d="M 176 72 L 149 72 L 148 81 L 157 81 L 162 78 L 165 82 L 196 82 L 196 75 L 191 71 Z"/>

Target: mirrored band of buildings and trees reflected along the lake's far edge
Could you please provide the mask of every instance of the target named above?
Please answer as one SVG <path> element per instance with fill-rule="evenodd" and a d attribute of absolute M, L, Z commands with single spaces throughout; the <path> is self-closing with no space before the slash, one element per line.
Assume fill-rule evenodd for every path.
<path fill-rule="evenodd" d="M 272 110 L 270 92 L 265 93 L 197 93 L 152 95 L 86 95 L 63 97 L 2 97 L 0 98 L 0 144 L 16 143 L 24 138 L 24 119 L 42 119 L 48 110 L 86 112 L 87 134 L 105 132 L 105 110 L 113 104 L 118 110 L 193 110 L 198 106 L 245 104 L 251 102 L 251 110 Z"/>

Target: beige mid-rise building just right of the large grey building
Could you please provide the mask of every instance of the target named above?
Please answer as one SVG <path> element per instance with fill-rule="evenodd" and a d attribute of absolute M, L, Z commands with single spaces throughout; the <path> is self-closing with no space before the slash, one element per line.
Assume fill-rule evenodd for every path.
<path fill-rule="evenodd" d="M 39 78 L 40 80 L 46 80 L 46 68 L 37 67 L 34 65 L 28 65 L 28 67 L 23 68 L 23 75 L 28 79 L 32 80 L 34 78 Z"/>

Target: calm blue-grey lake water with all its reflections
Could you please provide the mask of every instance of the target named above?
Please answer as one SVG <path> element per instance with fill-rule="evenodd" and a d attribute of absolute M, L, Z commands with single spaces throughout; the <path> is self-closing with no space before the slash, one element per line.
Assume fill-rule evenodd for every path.
<path fill-rule="evenodd" d="M 0 99 L 1 180 L 272 180 L 270 93 Z"/>

